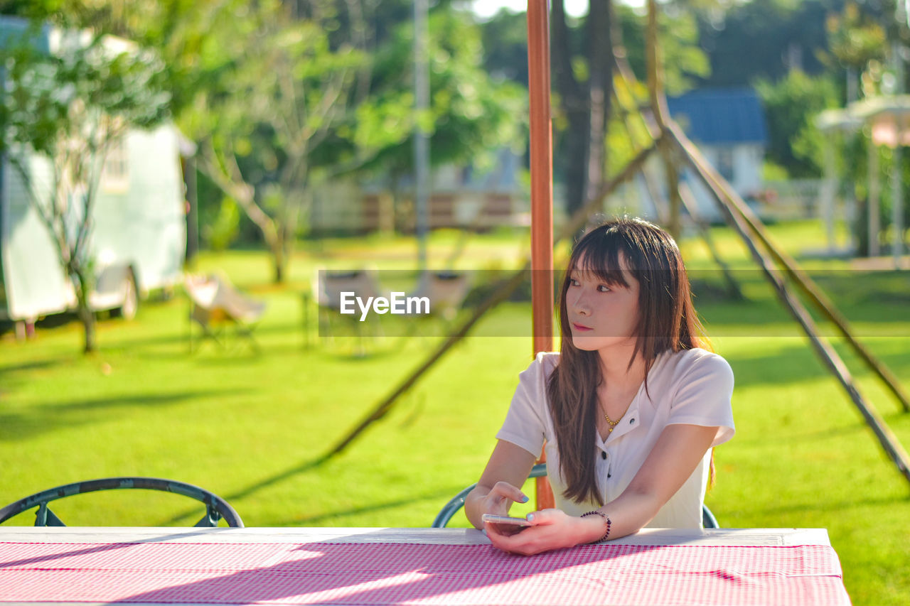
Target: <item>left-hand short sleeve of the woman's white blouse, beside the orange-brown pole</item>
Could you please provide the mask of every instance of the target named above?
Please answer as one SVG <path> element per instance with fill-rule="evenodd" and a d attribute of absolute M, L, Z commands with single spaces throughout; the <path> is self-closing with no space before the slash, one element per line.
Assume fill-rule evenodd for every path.
<path fill-rule="evenodd" d="M 531 366 L 521 371 L 509 412 L 496 434 L 497 439 L 520 446 L 535 457 L 541 454 L 546 438 L 547 373 L 544 366 L 541 354 L 531 362 Z"/>

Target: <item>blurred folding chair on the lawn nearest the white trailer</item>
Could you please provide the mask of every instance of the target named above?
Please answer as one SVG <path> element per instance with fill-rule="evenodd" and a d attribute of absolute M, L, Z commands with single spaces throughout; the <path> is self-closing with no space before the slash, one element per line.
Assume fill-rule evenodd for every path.
<path fill-rule="evenodd" d="M 210 274 L 207 276 L 187 274 L 184 278 L 191 309 L 189 317 L 202 328 L 202 338 L 211 338 L 219 346 L 222 329 L 227 324 L 235 328 L 235 334 L 248 339 L 250 345 L 258 350 L 258 343 L 253 337 L 253 330 L 266 311 L 266 304 L 247 297 L 225 276 Z M 190 332 L 190 349 L 193 348 Z"/>

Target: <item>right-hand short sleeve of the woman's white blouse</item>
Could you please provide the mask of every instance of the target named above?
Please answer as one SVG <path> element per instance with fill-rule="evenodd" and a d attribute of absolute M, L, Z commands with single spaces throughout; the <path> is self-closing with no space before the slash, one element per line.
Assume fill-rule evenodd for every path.
<path fill-rule="evenodd" d="M 733 369 L 716 354 L 695 359 L 680 379 L 667 425 L 716 427 L 712 446 L 733 438 Z"/>

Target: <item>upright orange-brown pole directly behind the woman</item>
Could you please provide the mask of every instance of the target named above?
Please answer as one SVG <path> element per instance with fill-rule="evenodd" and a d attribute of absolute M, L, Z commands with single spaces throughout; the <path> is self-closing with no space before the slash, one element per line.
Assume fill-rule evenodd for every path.
<path fill-rule="evenodd" d="M 547 0 L 528 0 L 528 98 L 531 114 L 532 353 L 553 349 L 553 171 L 550 20 Z M 541 452 L 539 463 L 545 462 Z M 535 480 L 537 509 L 554 506 L 546 477 Z"/>

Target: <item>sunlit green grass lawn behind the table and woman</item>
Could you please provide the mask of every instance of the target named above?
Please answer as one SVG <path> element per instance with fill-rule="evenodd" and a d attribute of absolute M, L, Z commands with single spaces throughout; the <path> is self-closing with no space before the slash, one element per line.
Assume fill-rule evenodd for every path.
<path fill-rule="evenodd" d="M 811 224 L 772 233 L 791 254 L 820 247 Z M 910 486 L 808 341 L 749 267 L 723 228 L 718 247 L 749 298 L 734 303 L 698 292 L 714 348 L 736 375 L 736 437 L 715 453 L 717 486 L 708 503 L 726 527 L 826 528 L 855 604 L 910 602 Z M 683 241 L 693 271 L 711 268 L 705 248 Z M 517 267 L 527 236 L 496 233 L 462 240 L 442 232 L 430 265 Z M 248 526 L 429 526 L 441 505 L 475 481 L 517 382 L 531 359 L 527 337 L 467 338 L 389 413 L 338 457 L 316 465 L 439 343 L 437 338 L 319 340 L 303 325 L 301 293 L 319 266 L 412 268 L 408 238 L 328 240 L 301 245 L 288 284 L 269 283 L 260 252 L 206 254 L 197 268 L 220 268 L 268 302 L 256 331 L 261 352 L 239 339 L 189 353 L 187 301 L 148 302 L 134 320 L 98 328 L 100 353 L 84 357 L 75 322 L 39 326 L 36 338 L 0 339 L 0 505 L 70 481 L 147 475 L 195 483 L 227 498 Z M 910 390 L 910 276 L 808 267 L 830 286 L 865 345 Z M 832 269 L 846 272 L 835 276 Z M 845 278 L 844 278 L 845 276 Z M 706 280 L 710 284 L 710 280 Z M 706 288 L 706 287 L 705 287 Z M 481 334 L 530 333 L 530 305 L 511 301 L 484 318 Z M 508 328 L 503 328 L 508 327 Z M 526 328 L 522 328 L 526 327 Z M 823 326 L 825 334 L 834 335 Z M 885 393 L 840 338 L 834 347 L 860 389 L 905 447 L 910 414 Z M 70 524 L 187 524 L 191 501 L 116 491 L 60 501 Z M 29 524 L 31 513 L 7 523 Z M 466 525 L 463 516 L 453 522 Z"/>

